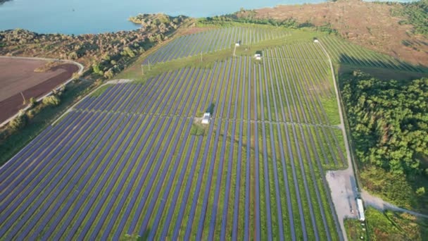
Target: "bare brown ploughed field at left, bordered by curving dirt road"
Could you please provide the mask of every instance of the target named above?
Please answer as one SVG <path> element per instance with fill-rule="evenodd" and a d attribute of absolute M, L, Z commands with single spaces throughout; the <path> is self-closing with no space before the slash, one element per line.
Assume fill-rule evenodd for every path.
<path fill-rule="evenodd" d="M 74 64 L 65 63 L 45 73 L 34 73 L 35 68 L 44 64 L 46 61 L 0 58 L 0 122 L 25 107 L 21 92 L 27 100 L 42 97 L 79 70 Z"/>

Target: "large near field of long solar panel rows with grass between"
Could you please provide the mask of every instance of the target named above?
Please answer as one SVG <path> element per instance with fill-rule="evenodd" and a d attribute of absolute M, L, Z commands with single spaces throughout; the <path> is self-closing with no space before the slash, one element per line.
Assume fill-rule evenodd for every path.
<path fill-rule="evenodd" d="M 149 52 L 77 104 L 0 169 L 1 239 L 340 240 L 325 170 L 346 152 L 313 43 L 332 38 L 276 31 L 141 67 Z"/>

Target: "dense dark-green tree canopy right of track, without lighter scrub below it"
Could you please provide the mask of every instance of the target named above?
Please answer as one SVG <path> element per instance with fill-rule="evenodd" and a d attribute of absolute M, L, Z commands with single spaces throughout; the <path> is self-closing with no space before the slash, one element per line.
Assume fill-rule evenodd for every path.
<path fill-rule="evenodd" d="M 428 158 L 428 78 L 384 81 L 354 71 L 341 85 L 358 159 L 428 175 L 421 166 Z"/>

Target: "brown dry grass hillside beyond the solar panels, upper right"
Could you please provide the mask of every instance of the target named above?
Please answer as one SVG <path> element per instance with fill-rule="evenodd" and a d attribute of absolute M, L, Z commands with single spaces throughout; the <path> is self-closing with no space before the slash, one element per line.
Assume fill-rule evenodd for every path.
<path fill-rule="evenodd" d="M 339 0 L 322 4 L 276 6 L 256 10 L 256 18 L 284 20 L 295 18 L 320 26 L 330 23 L 339 34 L 361 46 L 389 54 L 403 61 L 428 66 L 428 39 L 413 35 L 411 25 L 399 25 L 403 18 L 391 16 L 391 8 L 402 6 L 357 0 Z M 406 47 L 403 43 L 410 42 Z"/>

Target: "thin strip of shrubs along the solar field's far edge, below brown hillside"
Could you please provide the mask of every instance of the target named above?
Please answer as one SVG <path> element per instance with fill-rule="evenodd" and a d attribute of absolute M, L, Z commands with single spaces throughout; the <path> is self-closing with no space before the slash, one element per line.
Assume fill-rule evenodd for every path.
<path fill-rule="evenodd" d="M 233 23 L 253 23 L 261 25 L 271 25 L 275 27 L 287 27 L 287 28 L 302 28 L 310 27 L 313 30 L 320 32 L 328 32 L 329 34 L 337 34 L 337 30 L 332 28 L 332 25 L 329 23 L 322 26 L 315 26 L 313 23 L 306 21 L 304 23 L 299 23 L 295 18 L 287 18 L 285 20 L 277 20 L 273 18 L 256 18 L 256 13 L 253 11 L 248 11 L 241 9 L 236 13 L 222 15 L 222 16 L 213 16 L 208 18 L 199 18 L 198 23 L 200 25 L 220 25 L 220 26 L 229 26 Z"/>

